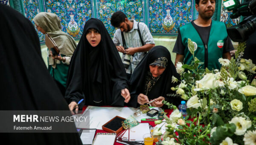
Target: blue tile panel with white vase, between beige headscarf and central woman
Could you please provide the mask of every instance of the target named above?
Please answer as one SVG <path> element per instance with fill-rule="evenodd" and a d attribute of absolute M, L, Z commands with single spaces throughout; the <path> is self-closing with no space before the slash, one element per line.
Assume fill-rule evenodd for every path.
<path fill-rule="evenodd" d="M 84 23 L 93 17 L 91 0 L 44 0 L 46 12 L 61 19 L 62 31 L 81 38 Z"/>

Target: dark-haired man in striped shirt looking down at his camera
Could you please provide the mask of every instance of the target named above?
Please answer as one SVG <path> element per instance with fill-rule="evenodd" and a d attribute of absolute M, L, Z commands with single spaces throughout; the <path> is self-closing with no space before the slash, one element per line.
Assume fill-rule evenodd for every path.
<path fill-rule="evenodd" d="M 118 28 L 114 33 L 113 42 L 116 49 L 123 53 L 122 62 L 130 79 L 146 52 L 154 47 L 153 37 L 145 23 L 128 20 L 121 11 L 113 13 L 111 25 Z"/>

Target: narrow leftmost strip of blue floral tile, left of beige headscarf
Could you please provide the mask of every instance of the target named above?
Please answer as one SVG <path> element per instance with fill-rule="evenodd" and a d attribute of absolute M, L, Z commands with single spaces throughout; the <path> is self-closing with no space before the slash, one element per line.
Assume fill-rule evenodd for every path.
<path fill-rule="evenodd" d="M 23 5 L 24 5 L 25 17 L 31 20 L 31 22 L 35 26 L 33 18 L 35 17 L 36 14 L 40 12 L 40 6 L 38 3 L 38 0 L 23 0 Z M 44 42 L 43 33 L 39 32 L 36 28 L 35 30 L 38 32 L 39 41 Z"/>

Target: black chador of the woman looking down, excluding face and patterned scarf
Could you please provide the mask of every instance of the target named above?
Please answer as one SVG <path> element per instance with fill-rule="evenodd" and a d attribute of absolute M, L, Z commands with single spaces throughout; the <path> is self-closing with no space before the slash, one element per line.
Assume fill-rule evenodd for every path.
<path fill-rule="evenodd" d="M 147 55 L 140 61 L 137 67 L 134 70 L 134 73 L 131 75 L 131 101 L 130 104 L 133 107 L 137 106 L 137 96 L 140 93 L 144 93 L 146 75 L 150 71 L 149 64 L 153 63 L 157 58 L 165 57 L 168 60 L 166 70 L 160 75 L 159 80 L 148 93 L 148 99 L 155 99 L 159 96 L 165 97 L 169 102 L 173 104 L 180 103 L 179 98 L 173 98 L 166 96 L 168 93 L 172 92 L 171 87 L 176 87 L 177 84 L 172 83 L 172 76 L 180 78 L 179 74 L 176 72 L 176 68 L 171 60 L 171 55 L 168 49 L 164 46 L 154 46 L 151 50 L 148 51 Z"/>

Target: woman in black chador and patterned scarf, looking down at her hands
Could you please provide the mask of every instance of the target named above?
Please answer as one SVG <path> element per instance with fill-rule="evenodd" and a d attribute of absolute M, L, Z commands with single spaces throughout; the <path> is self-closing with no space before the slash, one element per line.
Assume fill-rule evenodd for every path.
<path fill-rule="evenodd" d="M 138 104 L 151 103 L 154 107 L 162 107 L 163 100 L 179 104 L 180 99 L 167 96 L 172 93 L 172 76 L 179 78 L 171 55 L 164 46 L 153 47 L 140 61 L 131 76 L 131 101 L 129 104 L 137 107 Z"/>

